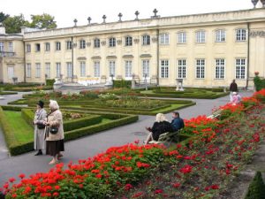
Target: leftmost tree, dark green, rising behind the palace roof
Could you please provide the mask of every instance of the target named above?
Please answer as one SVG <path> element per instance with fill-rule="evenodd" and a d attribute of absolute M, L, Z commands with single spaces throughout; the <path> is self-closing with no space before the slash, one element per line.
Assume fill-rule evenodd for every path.
<path fill-rule="evenodd" d="M 3 24 L 7 34 L 20 33 L 20 27 L 28 27 L 30 25 L 29 22 L 24 19 L 23 14 L 6 18 L 4 19 Z"/>

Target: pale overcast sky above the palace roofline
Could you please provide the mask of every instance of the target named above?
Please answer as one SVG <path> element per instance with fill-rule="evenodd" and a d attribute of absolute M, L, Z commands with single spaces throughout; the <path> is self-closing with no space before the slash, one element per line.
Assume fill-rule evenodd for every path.
<path fill-rule="evenodd" d="M 23 13 L 27 20 L 31 14 L 49 13 L 55 17 L 58 27 L 72 27 L 73 19 L 78 26 L 87 24 L 87 17 L 93 23 L 117 21 L 122 12 L 123 19 L 134 19 L 135 11 L 140 11 L 140 19 L 149 18 L 154 9 L 161 17 L 196 14 L 213 11 L 233 11 L 251 9 L 251 0 L 2 0 L 0 11 L 10 15 Z"/>

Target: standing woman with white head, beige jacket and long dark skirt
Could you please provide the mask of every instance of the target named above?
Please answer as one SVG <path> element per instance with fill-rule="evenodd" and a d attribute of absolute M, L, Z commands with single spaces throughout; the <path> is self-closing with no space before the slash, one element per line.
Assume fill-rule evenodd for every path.
<path fill-rule="evenodd" d="M 64 151 L 64 126 L 63 115 L 59 111 L 59 105 L 55 100 L 49 100 L 50 112 L 47 116 L 46 127 L 46 154 L 52 156 L 49 165 L 56 164 L 58 158 L 63 155 L 60 151 Z"/>

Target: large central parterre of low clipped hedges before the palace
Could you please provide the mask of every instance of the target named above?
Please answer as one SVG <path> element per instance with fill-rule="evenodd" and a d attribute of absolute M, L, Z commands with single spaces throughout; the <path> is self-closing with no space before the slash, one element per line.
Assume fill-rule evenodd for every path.
<path fill-rule="evenodd" d="M 60 107 L 67 108 L 67 110 L 115 111 L 125 114 L 141 115 L 155 115 L 158 112 L 167 113 L 195 104 L 189 100 L 139 98 L 127 93 L 117 96 L 115 91 L 111 92 L 110 90 L 110 93 L 108 91 L 83 91 L 80 94 L 62 94 L 61 92 L 46 93 L 45 91 L 39 91 L 32 95 L 25 95 L 23 99 L 11 102 L 10 104 L 27 104 L 32 107 L 40 99 L 45 103 L 49 103 L 49 99 L 55 99 L 60 104 Z"/>

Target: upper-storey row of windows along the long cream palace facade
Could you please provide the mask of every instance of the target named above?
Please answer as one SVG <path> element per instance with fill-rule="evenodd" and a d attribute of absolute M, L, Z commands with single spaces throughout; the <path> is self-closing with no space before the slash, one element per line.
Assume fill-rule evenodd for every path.
<path fill-rule="evenodd" d="M 198 43 L 204 43 L 206 42 L 206 31 L 200 30 L 195 33 L 195 40 Z M 117 41 L 115 37 L 110 37 L 108 40 L 108 46 L 109 47 L 116 47 Z M 226 33 L 225 30 L 220 29 L 216 30 L 216 42 L 225 42 L 226 41 Z M 236 41 L 242 42 L 246 41 L 246 29 L 237 29 L 236 30 Z M 164 33 L 160 34 L 159 36 L 159 42 L 160 44 L 170 44 L 170 34 Z M 178 43 L 186 43 L 187 42 L 187 36 L 186 32 L 179 32 L 178 33 Z M 1 42 L 0 42 L 1 44 Z M 86 49 L 86 41 L 85 40 L 79 40 L 79 49 Z M 142 45 L 150 45 L 150 35 L 144 34 L 141 38 L 141 44 Z M 100 48 L 101 47 L 101 41 L 100 39 L 95 39 L 93 43 L 94 48 Z M 132 36 L 125 36 L 125 46 L 133 46 L 133 37 Z M 56 42 L 55 44 L 56 50 L 61 50 L 61 42 Z M 1 45 L 0 45 L 1 50 Z M 72 41 L 66 41 L 66 50 L 72 50 Z M 31 45 L 27 44 L 26 51 L 31 51 Z M 36 43 L 35 44 L 35 51 L 41 51 L 41 44 Z M 45 43 L 45 51 L 50 51 L 50 43 Z"/>

